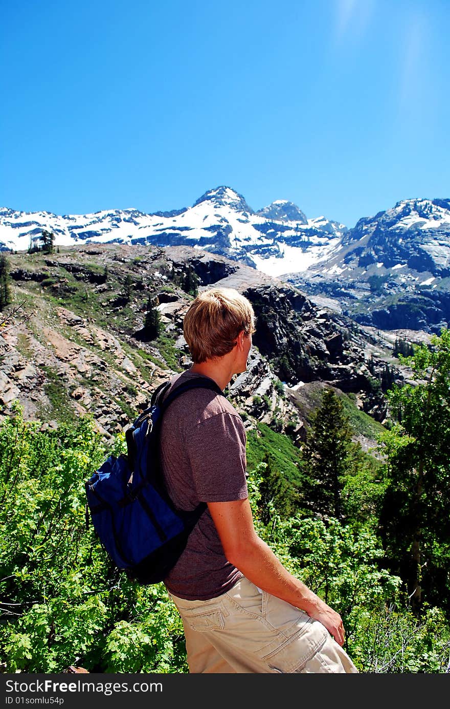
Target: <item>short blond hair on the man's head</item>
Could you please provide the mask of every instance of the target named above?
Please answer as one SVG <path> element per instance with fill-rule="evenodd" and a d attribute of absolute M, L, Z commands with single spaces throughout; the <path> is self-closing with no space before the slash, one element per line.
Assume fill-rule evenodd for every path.
<path fill-rule="evenodd" d="M 254 333 L 252 303 L 233 288 L 203 291 L 184 316 L 183 332 L 195 364 L 231 352 L 237 335 Z"/>

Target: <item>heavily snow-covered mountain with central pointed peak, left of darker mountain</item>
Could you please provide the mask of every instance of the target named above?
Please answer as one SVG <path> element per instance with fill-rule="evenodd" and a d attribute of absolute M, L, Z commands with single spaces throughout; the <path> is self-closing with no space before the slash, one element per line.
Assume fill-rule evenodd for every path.
<path fill-rule="evenodd" d="M 255 212 L 227 186 L 207 191 L 189 208 L 152 214 L 116 209 L 57 216 L 0 208 L 0 249 L 27 250 L 43 229 L 55 234 L 55 245 L 189 245 L 240 260 L 271 276 L 302 271 L 320 261 L 347 233 L 343 224 L 325 217 L 307 219 L 286 200 Z"/>

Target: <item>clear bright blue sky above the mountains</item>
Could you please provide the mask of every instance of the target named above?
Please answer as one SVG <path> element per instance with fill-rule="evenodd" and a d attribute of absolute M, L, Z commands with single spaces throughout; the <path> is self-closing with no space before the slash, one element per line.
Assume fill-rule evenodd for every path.
<path fill-rule="evenodd" d="M 448 0 L 1 0 L 0 206 L 450 197 Z"/>

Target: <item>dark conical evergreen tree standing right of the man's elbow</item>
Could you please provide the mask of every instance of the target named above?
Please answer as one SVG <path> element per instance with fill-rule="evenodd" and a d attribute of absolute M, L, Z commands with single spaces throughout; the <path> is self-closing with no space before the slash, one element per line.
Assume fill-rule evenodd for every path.
<path fill-rule="evenodd" d="M 352 435 L 342 401 L 333 389 L 325 389 L 301 450 L 307 476 L 305 503 L 316 512 L 337 519 L 342 518 L 343 476 L 353 464 Z"/>

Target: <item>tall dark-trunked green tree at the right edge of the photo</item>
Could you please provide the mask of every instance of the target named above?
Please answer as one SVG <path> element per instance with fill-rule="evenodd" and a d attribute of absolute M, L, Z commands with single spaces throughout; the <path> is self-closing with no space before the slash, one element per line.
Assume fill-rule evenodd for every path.
<path fill-rule="evenodd" d="M 450 331 L 400 359 L 416 381 L 388 391 L 396 423 L 380 439 L 389 481 L 381 533 L 415 613 L 424 596 L 450 610 Z"/>

